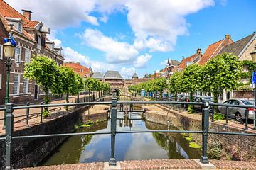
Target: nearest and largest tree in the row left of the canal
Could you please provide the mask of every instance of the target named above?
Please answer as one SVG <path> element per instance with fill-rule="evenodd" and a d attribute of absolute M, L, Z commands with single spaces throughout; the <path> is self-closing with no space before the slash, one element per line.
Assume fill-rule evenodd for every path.
<path fill-rule="evenodd" d="M 50 58 L 44 55 L 34 57 L 30 63 L 25 64 L 23 77 L 36 81 L 45 92 L 43 103 L 50 103 L 49 91 L 56 91 L 58 86 L 58 66 Z M 44 116 L 48 116 L 48 108 L 45 108 Z"/>

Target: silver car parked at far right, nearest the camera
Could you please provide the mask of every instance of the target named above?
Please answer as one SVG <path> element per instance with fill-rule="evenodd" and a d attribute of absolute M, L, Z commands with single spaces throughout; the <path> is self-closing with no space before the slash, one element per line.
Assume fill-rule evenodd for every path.
<path fill-rule="evenodd" d="M 230 104 L 235 106 L 254 106 L 254 101 L 246 99 L 230 99 L 223 104 Z M 218 111 L 225 115 L 225 106 L 218 106 Z M 245 108 L 228 107 L 228 117 L 235 118 L 238 121 L 245 120 Z M 254 108 L 248 108 L 248 119 L 254 119 Z"/>

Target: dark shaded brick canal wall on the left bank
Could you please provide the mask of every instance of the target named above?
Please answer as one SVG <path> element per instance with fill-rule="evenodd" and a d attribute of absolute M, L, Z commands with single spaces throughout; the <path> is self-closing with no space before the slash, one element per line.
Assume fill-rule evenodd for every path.
<path fill-rule="evenodd" d="M 34 125 L 32 127 L 16 130 L 14 136 L 25 135 L 43 135 L 43 134 L 57 134 L 72 132 L 74 125 L 81 120 L 81 114 L 90 106 L 82 106 L 76 108 L 70 113 L 49 120 L 46 123 Z M 4 136 L 0 136 L 4 137 Z M 35 166 L 55 149 L 65 137 L 41 137 L 32 139 L 18 139 L 12 140 L 11 164 L 14 168 Z M 5 158 L 5 141 L 0 142 L 0 167 L 4 169 Z"/>

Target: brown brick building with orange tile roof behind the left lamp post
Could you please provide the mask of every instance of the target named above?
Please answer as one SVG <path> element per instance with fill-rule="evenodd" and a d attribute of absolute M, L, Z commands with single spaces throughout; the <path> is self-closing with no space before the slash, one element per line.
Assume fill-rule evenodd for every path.
<path fill-rule="evenodd" d="M 62 65 L 64 58 L 61 48 L 55 48 L 46 35 L 50 28 L 43 26 L 41 21 L 31 20 L 31 11 L 18 13 L 14 8 L 0 0 L 0 104 L 4 103 L 6 92 L 6 67 L 3 52 L 3 38 L 10 33 L 17 42 L 15 55 L 11 59 L 11 74 L 9 97 L 11 102 L 33 101 L 43 96 L 39 86 L 34 81 L 23 78 L 24 66 L 36 55 L 46 55 Z"/>

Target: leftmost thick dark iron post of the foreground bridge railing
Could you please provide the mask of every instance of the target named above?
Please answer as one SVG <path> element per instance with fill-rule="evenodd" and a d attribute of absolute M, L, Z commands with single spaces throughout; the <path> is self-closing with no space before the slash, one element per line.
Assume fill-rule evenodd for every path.
<path fill-rule="evenodd" d="M 6 170 L 11 167 L 11 138 L 14 133 L 14 112 L 13 104 L 6 104 Z"/>

